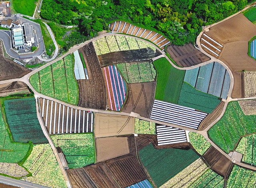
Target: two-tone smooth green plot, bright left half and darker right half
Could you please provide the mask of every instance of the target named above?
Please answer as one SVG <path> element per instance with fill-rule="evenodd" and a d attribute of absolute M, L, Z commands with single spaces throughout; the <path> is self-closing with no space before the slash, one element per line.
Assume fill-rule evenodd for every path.
<path fill-rule="evenodd" d="M 174 68 L 165 57 L 156 59 L 154 66 L 157 71 L 155 99 L 177 104 L 186 71 Z"/>

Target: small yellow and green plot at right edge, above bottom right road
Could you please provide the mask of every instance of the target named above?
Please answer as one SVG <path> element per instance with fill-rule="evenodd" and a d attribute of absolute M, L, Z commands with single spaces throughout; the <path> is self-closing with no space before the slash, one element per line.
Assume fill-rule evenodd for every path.
<path fill-rule="evenodd" d="M 243 154 L 242 162 L 256 166 L 256 135 L 242 137 L 236 151 Z"/>

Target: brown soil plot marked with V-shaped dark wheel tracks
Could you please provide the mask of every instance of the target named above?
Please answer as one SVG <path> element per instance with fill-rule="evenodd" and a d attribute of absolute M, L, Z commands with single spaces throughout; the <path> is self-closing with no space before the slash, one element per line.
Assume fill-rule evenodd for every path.
<path fill-rule="evenodd" d="M 156 81 L 128 84 L 128 95 L 122 112 L 149 117 L 155 96 Z"/>

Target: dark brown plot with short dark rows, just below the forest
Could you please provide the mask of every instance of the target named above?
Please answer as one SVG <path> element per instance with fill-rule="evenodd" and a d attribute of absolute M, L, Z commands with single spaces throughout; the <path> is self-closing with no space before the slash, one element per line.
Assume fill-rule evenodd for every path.
<path fill-rule="evenodd" d="M 166 50 L 172 59 L 181 67 L 191 67 L 211 59 L 196 49 L 191 43 L 185 46 L 170 45 Z"/>

